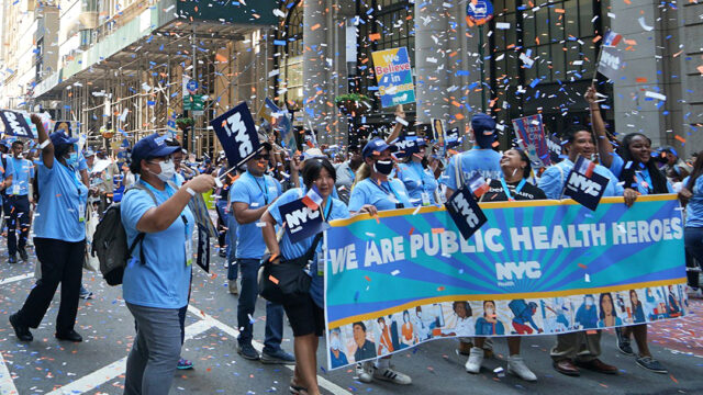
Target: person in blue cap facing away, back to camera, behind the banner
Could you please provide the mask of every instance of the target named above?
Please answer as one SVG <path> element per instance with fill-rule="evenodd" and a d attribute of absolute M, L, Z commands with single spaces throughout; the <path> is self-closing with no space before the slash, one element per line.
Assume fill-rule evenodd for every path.
<path fill-rule="evenodd" d="M 454 194 L 454 191 L 460 189 L 477 173 L 483 176 L 487 182 L 488 179 L 499 179 L 503 173 L 500 166 L 501 155 L 493 150 L 495 121 L 487 114 L 478 113 L 471 119 L 471 133 L 476 146 L 451 157 L 447 169 L 439 178 L 439 182 L 447 187 L 447 200 Z"/>

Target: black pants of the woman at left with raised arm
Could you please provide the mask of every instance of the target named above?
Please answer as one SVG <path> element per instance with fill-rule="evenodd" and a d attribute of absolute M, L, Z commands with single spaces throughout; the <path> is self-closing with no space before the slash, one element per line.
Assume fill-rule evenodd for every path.
<path fill-rule="evenodd" d="M 31 328 L 38 327 L 60 283 L 62 302 L 56 317 L 56 332 L 66 334 L 76 324 L 86 241 L 70 242 L 35 237 L 34 246 L 42 264 L 42 278 L 36 281 L 18 313 L 20 323 Z"/>

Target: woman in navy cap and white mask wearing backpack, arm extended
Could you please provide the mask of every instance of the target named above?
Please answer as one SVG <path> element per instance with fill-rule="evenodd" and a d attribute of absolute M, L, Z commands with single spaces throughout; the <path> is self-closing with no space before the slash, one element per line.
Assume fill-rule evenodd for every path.
<path fill-rule="evenodd" d="M 125 394 L 168 394 L 180 357 L 179 309 L 188 303 L 194 226 L 188 202 L 215 182 L 202 174 L 180 188 L 169 184 L 176 173 L 171 155 L 177 149 L 158 134 L 132 149 L 130 171 L 140 180 L 122 200 L 122 224 L 127 245 L 140 234 L 145 236 L 124 270 L 122 284 L 137 327 L 127 357 Z"/>

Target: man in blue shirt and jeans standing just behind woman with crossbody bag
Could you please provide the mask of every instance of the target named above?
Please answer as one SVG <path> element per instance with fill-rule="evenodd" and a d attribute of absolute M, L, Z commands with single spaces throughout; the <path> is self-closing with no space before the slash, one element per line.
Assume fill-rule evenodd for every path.
<path fill-rule="evenodd" d="M 239 337 L 237 353 L 248 360 L 261 360 L 264 363 L 294 363 L 295 359 L 281 349 L 283 338 L 283 306 L 266 302 L 266 339 L 264 352 L 252 346 L 254 328 L 254 308 L 259 290 L 257 275 L 266 245 L 258 223 L 268 206 L 281 194 L 280 183 L 265 172 L 268 169 L 271 145 L 263 143 L 264 148 L 247 162 L 243 173 L 231 189 L 232 213 L 237 227 L 236 260 L 242 274 L 242 286 L 237 304 Z"/>

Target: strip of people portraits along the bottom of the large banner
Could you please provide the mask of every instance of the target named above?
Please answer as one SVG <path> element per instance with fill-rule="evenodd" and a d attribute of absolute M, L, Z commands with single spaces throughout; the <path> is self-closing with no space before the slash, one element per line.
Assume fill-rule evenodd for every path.
<path fill-rule="evenodd" d="M 450 337 L 557 335 L 683 316 L 681 284 L 549 298 L 422 305 L 330 330 L 331 369 Z"/>

